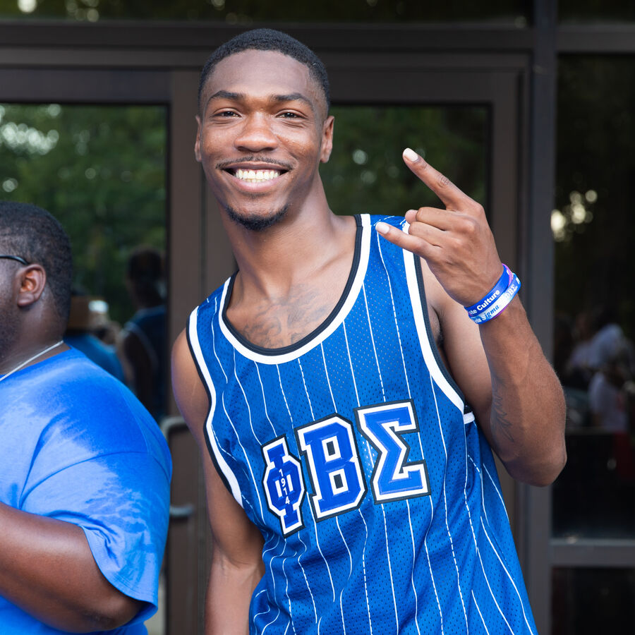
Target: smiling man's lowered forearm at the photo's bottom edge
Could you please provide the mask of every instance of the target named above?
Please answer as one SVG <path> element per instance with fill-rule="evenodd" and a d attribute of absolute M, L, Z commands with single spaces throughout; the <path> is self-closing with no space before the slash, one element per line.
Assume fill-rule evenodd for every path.
<path fill-rule="evenodd" d="M 213 552 L 212 552 L 213 553 Z M 212 555 L 205 612 L 206 635 L 246 635 L 253 590 L 262 579 L 264 564 L 232 563 Z"/>

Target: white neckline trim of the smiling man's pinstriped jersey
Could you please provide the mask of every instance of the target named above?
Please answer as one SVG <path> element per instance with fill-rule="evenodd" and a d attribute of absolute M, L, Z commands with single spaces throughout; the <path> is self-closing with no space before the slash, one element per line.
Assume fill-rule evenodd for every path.
<path fill-rule="evenodd" d="M 243 357 L 251 359 L 256 362 L 260 362 L 262 364 L 282 364 L 288 361 L 292 361 L 301 357 L 311 349 L 314 349 L 317 344 L 321 344 L 322 341 L 327 339 L 330 334 L 332 334 L 342 322 L 344 322 L 344 318 L 346 315 L 349 315 L 351 308 L 355 304 L 357 300 L 357 296 L 362 288 L 362 283 L 366 275 L 366 268 L 368 267 L 368 257 L 370 255 L 370 217 L 368 214 L 361 214 L 361 225 L 362 225 L 362 237 L 361 237 L 361 250 L 360 250 L 360 258 L 359 265 L 357 271 L 355 272 L 355 277 L 353 279 L 353 284 L 351 285 L 351 290 L 349 294 L 344 298 L 344 303 L 342 303 L 341 308 L 339 309 L 337 315 L 329 322 L 329 324 L 320 331 L 315 337 L 310 339 L 304 346 L 301 346 L 298 349 L 294 349 L 289 351 L 288 353 L 281 353 L 279 355 L 263 355 L 262 353 L 258 353 L 253 351 L 252 349 L 245 346 L 240 340 L 234 336 L 229 327 L 227 327 L 225 320 L 223 319 L 223 310 L 219 310 L 218 312 L 218 320 L 221 327 L 221 330 L 229 341 L 231 346 L 234 346 L 234 349 L 241 353 Z M 223 293 L 221 298 L 221 307 L 226 306 L 226 295 L 227 290 L 229 289 L 230 280 L 226 280 L 223 285 Z"/>

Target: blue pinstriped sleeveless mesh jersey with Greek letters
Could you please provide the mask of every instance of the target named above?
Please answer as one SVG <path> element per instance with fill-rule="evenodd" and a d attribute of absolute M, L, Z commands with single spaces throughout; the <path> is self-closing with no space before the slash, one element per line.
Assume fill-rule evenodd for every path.
<path fill-rule="evenodd" d="M 357 219 L 327 320 L 292 346 L 193 311 L 207 445 L 265 544 L 250 633 L 536 633 L 488 443 L 431 337 L 418 259 Z"/>

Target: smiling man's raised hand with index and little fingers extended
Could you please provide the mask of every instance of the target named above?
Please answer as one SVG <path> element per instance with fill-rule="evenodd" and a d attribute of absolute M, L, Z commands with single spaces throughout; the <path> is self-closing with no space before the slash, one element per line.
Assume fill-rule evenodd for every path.
<path fill-rule="evenodd" d="M 386 223 L 377 223 L 377 231 L 424 258 L 447 294 L 470 306 L 492 289 L 503 270 L 485 210 L 410 148 L 403 157 L 445 209 L 409 210 L 407 234 Z"/>

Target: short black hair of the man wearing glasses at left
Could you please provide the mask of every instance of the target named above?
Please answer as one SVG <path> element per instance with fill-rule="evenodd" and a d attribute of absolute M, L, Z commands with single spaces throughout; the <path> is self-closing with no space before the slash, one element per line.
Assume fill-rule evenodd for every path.
<path fill-rule="evenodd" d="M 73 255 L 68 234 L 52 214 L 30 203 L 0 200 L 0 250 L 44 267 L 57 313 L 66 322 Z"/>

